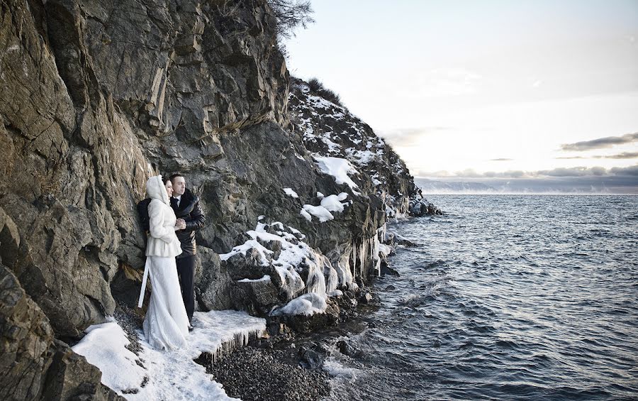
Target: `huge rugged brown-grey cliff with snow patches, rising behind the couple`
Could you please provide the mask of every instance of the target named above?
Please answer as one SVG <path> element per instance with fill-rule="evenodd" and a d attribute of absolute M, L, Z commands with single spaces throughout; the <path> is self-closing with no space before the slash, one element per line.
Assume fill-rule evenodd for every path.
<path fill-rule="evenodd" d="M 368 126 L 291 83 L 265 0 L 2 0 L 0 21 L 3 399 L 118 397 L 67 344 L 133 306 L 150 175 L 201 197 L 204 310 L 361 285 L 387 216 L 424 204 Z"/>

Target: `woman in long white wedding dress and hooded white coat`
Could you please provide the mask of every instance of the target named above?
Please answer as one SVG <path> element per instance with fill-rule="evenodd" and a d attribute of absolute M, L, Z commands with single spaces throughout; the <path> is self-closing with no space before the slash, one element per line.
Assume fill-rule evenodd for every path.
<path fill-rule="evenodd" d="M 189 333 L 189 318 L 181 299 L 175 265 L 175 256 L 181 253 L 175 231 L 183 229 L 184 222 L 177 221 L 170 207 L 169 197 L 173 193 L 170 180 L 162 180 L 161 175 L 150 177 L 146 191 L 151 199 L 148 205 L 150 235 L 146 246 L 146 268 L 152 292 L 143 324 L 144 334 L 153 348 L 169 350 L 184 346 L 185 336 Z"/>

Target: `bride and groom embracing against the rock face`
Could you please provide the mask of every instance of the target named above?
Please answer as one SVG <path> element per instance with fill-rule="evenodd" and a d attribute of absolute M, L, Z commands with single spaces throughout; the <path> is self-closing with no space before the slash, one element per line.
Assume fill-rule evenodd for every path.
<path fill-rule="evenodd" d="M 161 175 L 150 177 L 146 191 L 150 198 L 149 235 L 138 306 L 141 307 L 150 275 L 152 292 L 144 334 L 153 348 L 174 349 L 186 344 L 185 336 L 192 329 L 195 230 L 203 227 L 205 218 L 198 198 L 186 189 L 183 175 L 174 174 L 168 179 L 162 179 Z"/>

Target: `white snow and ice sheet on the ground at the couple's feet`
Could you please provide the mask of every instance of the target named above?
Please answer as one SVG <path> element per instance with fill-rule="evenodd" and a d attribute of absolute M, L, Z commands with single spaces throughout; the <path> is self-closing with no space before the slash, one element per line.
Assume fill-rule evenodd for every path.
<path fill-rule="evenodd" d="M 251 334 L 264 333 L 266 321 L 227 310 L 195 312 L 193 325 L 186 346 L 175 351 L 155 350 L 138 330 L 142 347 L 138 357 L 125 348 L 128 338 L 111 320 L 86 329 L 86 336 L 73 351 L 97 366 L 102 383 L 127 400 L 237 400 L 228 397 L 222 385 L 206 374 L 206 368 L 193 360 L 203 352 L 215 354 L 223 343 L 247 344 Z M 147 383 L 142 387 L 145 378 Z M 130 393 L 135 390 L 135 394 Z"/>

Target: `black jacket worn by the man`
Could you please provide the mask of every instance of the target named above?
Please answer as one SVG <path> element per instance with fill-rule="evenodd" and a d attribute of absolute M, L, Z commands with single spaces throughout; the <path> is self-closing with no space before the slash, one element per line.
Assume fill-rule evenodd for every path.
<path fill-rule="evenodd" d="M 171 197 L 171 207 L 178 219 L 186 221 L 186 229 L 175 232 L 179 242 L 181 242 L 181 254 L 177 258 L 193 256 L 197 253 L 195 231 L 203 228 L 204 224 L 206 224 L 206 217 L 201 211 L 201 206 L 199 206 L 199 198 L 189 189 L 186 189 L 184 194 L 181 195 L 179 207 L 177 206 L 177 199 Z"/>

